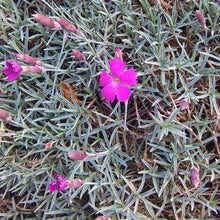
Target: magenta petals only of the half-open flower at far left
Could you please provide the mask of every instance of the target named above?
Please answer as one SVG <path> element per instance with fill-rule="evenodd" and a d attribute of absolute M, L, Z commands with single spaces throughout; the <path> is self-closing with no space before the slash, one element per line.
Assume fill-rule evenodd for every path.
<path fill-rule="evenodd" d="M 8 81 L 13 81 L 18 78 L 22 73 L 22 66 L 15 61 L 6 61 L 6 68 L 2 73 L 8 75 Z"/>

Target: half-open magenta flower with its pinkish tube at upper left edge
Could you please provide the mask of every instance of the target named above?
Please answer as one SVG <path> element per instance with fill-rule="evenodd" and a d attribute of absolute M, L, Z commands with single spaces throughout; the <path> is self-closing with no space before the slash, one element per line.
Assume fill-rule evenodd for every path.
<path fill-rule="evenodd" d="M 46 70 L 41 66 L 21 66 L 16 61 L 6 61 L 6 66 L 2 73 L 8 75 L 8 81 L 17 79 L 21 73 L 41 73 Z"/>

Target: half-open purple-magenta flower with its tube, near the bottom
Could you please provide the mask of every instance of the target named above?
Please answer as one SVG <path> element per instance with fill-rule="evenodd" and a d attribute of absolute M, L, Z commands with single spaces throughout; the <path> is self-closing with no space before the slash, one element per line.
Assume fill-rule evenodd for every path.
<path fill-rule="evenodd" d="M 65 189 L 80 187 L 84 184 L 84 181 L 80 179 L 67 180 L 65 177 L 59 174 L 54 174 L 53 178 L 57 179 L 57 181 L 49 184 L 49 190 L 51 192 L 55 190 L 64 191 Z"/>

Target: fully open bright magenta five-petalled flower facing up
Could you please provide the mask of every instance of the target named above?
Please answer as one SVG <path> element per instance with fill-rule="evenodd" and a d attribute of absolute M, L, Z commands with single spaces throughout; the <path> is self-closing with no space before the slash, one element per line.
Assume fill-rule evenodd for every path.
<path fill-rule="evenodd" d="M 118 101 L 126 102 L 131 94 L 127 85 L 135 86 L 137 83 L 137 73 L 133 68 L 124 71 L 125 62 L 114 58 L 109 62 L 111 75 L 102 70 L 100 76 L 100 86 L 102 95 L 108 102 L 113 102 L 115 95 Z"/>

